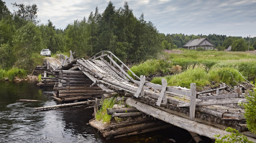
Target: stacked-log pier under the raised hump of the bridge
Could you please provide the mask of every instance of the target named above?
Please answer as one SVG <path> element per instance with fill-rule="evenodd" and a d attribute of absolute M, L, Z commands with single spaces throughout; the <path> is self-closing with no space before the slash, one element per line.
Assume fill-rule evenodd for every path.
<path fill-rule="evenodd" d="M 56 97 L 63 102 L 101 98 L 105 93 L 98 86 L 90 87 L 93 82 L 82 71 L 55 71 L 55 79 Z"/>

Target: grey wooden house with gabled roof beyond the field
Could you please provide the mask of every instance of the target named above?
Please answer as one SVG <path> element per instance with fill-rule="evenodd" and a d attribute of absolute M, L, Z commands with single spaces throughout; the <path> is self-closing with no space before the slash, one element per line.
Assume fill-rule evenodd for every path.
<path fill-rule="evenodd" d="M 199 38 L 188 41 L 183 47 L 187 49 L 197 49 L 199 47 L 203 49 L 214 49 L 214 44 L 207 38 Z"/>

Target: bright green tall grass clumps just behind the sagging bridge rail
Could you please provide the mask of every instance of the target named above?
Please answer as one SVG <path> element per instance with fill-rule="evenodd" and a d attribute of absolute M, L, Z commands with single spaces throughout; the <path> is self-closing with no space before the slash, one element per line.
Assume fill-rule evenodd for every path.
<path fill-rule="evenodd" d="M 196 86 L 202 87 L 214 81 L 217 84 L 221 81 L 229 85 L 236 85 L 237 82 L 243 82 L 244 79 L 239 71 L 233 67 L 212 67 L 206 70 L 203 64 L 188 66 L 186 71 L 180 74 L 167 77 L 155 77 L 152 83 L 161 84 L 161 79 L 165 78 L 169 86 L 180 86 L 190 88 L 191 83 L 196 83 Z"/>

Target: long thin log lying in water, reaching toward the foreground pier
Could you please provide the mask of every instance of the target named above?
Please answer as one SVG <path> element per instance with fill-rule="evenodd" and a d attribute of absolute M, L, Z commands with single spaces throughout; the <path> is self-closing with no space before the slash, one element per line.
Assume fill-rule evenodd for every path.
<path fill-rule="evenodd" d="M 69 103 L 69 104 L 58 104 L 58 105 L 53 105 L 50 107 L 38 107 L 35 108 L 35 110 L 47 110 L 47 109 L 55 109 L 55 108 L 61 108 L 61 107 L 72 107 L 72 106 L 76 106 L 76 105 L 81 105 L 81 104 L 93 104 L 93 102 L 95 102 L 95 100 L 89 100 L 86 102 L 76 102 L 76 103 Z"/>

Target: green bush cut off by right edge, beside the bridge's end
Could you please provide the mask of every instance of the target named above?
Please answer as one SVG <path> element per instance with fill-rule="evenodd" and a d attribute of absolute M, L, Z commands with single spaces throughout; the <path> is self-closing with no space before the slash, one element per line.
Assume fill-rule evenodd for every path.
<path fill-rule="evenodd" d="M 246 118 L 247 127 L 251 132 L 256 133 L 256 88 L 250 92 L 250 96 L 246 96 L 248 103 L 244 103 L 244 117 Z"/>

